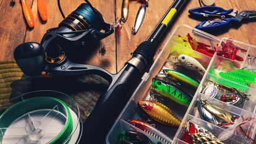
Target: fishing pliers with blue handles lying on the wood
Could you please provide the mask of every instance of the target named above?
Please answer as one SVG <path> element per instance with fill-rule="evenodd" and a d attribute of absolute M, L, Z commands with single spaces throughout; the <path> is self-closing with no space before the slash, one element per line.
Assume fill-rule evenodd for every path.
<path fill-rule="evenodd" d="M 229 28 L 230 25 L 241 23 L 256 17 L 256 11 L 237 12 L 234 9 L 225 10 L 222 7 L 203 6 L 189 10 L 189 14 L 196 18 L 220 17 L 220 20 L 208 20 L 199 23 L 195 28 L 205 32 L 216 32 Z"/>

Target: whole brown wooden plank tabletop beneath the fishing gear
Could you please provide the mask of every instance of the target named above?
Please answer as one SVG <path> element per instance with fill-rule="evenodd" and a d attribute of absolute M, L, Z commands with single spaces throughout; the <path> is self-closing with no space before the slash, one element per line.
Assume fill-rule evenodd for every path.
<path fill-rule="evenodd" d="M 16 0 L 16 4 L 13 8 L 9 6 L 9 0 L 0 1 L 0 61 L 13 59 L 13 51 L 20 43 L 25 41 L 40 42 L 46 30 L 52 27 L 57 27 L 62 20 L 58 10 L 57 0 L 46 0 L 49 14 L 49 19 L 46 23 L 40 21 L 36 0 L 27 0 L 27 2 L 32 6 L 32 12 L 35 16 L 36 25 L 33 30 L 27 28 L 19 0 Z M 61 0 L 64 14 L 68 15 L 82 2 L 83 0 Z M 90 2 L 92 2 L 93 6 L 103 14 L 106 22 L 112 23 L 115 21 L 115 17 L 121 17 L 122 0 L 91 0 Z M 130 58 L 130 53 L 134 51 L 138 44 L 147 38 L 172 2 L 173 1 L 171 0 L 150 0 L 143 25 L 135 36 L 132 35 L 131 28 L 134 25 L 134 20 L 140 5 L 135 1 L 130 2 L 129 17 L 122 27 L 121 35 L 116 37 L 113 34 L 102 40 L 99 48 L 95 48 L 92 57 L 90 57 L 90 60 L 86 63 L 103 67 L 111 73 L 118 72 Z M 216 0 L 215 4 L 224 9 L 233 8 L 237 11 L 256 10 L 255 0 Z M 172 30 L 181 23 L 195 26 L 198 21 L 190 19 L 187 11 L 198 6 L 199 4 L 197 0 L 190 0 L 184 11 L 181 12 L 181 16 L 179 16 L 173 27 L 170 29 L 168 35 L 170 35 Z M 250 22 L 244 23 L 237 29 L 231 28 L 227 33 L 218 36 L 231 37 L 235 40 L 256 45 L 255 32 L 256 22 Z M 159 49 L 163 48 L 163 44 L 167 39 L 168 36 L 166 36 Z M 106 49 L 106 54 L 104 56 L 99 53 L 101 48 Z"/>

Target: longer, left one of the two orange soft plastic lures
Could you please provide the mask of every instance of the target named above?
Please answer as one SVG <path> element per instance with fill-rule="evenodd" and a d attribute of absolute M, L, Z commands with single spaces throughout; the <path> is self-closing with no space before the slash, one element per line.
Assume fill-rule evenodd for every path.
<path fill-rule="evenodd" d="M 35 20 L 34 20 L 32 11 L 30 9 L 30 6 L 28 6 L 28 4 L 25 0 L 21 0 L 21 2 L 22 2 L 23 14 L 28 23 L 28 27 L 30 27 L 30 28 L 35 27 Z"/>

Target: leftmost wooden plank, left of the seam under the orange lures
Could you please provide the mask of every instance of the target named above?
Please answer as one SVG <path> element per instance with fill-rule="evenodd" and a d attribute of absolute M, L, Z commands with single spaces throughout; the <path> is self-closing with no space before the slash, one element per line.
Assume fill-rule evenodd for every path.
<path fill-rule="evenodd" d="M 27 1 L 29 5 L 32 0 Z M 10 1 L 0 1 L 0 61 L 14 59 L 13 51 L 20 43 L 23 43 L 26 22 L 23 18 L 22 6 L 16 1 L 14 7 Z"/>

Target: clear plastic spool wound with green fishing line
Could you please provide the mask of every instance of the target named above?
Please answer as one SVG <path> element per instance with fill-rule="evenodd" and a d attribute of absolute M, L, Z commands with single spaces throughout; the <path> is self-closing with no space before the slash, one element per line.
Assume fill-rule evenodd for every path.
<path fill-rule="evenodd" d="M 82 124 L 77 103 L 58 91 L 33 91 L 1 106 L 4 143 L 79 143 Z"/>

